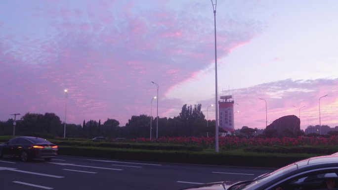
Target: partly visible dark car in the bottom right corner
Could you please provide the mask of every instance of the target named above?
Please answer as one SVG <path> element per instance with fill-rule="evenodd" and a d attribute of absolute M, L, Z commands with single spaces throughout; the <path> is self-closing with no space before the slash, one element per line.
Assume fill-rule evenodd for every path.
<path fill-rule="evenodd" d="M 184 190 L 338 190 L 338 155 L 312 157 L 251 181 L 216 182 Z"/>

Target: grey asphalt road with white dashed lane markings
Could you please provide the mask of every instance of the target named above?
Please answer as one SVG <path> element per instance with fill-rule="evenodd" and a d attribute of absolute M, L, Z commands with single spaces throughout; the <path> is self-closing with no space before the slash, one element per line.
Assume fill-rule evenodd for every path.
<path fill-rule="evenodd" d="M 50 162 L 0 159 L 1 190 L 178 190 L 251 180 L 267 168 L 154 163 L 58 156 Z"/>

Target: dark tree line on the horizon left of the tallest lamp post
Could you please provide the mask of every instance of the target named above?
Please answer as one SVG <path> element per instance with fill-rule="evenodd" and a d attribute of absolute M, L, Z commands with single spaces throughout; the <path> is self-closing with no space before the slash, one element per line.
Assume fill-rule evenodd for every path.
<path fill-rule="evenodd" d="M 207 120 L 201 111 L 202 104 L 182 106 L 178 116 L 173 118 L 158 118 L 159 137 L 201 137 L 214 136 L 215 122 Z M 156 119 L 152 119 L 152 138 L 156 138 Z M 0 121 L 0 135 L 13 135 L 13 119 Z M 148 115 L 132 116 L 126 126 L 120 127 L 116 119 L 108 118 L 103 123 L 101 120 L 89 120 L 83 124 L 66 123 L 67 138 L 150 138 L 150 122 Z M 17 136 L 50 136 L 63 137 L 65 124 L 54 113 L 26 113 L 21 119 L 16 120 L 15 135 Z M 222 129 L 219 129 L 222 131 Z"/>

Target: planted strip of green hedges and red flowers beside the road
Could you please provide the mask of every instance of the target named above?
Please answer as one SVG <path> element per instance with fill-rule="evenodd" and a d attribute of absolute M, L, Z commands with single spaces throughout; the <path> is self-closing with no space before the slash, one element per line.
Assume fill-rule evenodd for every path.
<path fill-rule="evenodd" d="M 0 142 L 11 138 L 0 136 Z M 338 136 L 281 139 L 220 137 L 219 153 L 214 151 L 214 138 L 211 137 L 138 138 L 125 142 L 51 138 L 48 141 L 59 145 L 61 155 L 252 167 L 281 167 L 300 159 L 338 152 Z"/>

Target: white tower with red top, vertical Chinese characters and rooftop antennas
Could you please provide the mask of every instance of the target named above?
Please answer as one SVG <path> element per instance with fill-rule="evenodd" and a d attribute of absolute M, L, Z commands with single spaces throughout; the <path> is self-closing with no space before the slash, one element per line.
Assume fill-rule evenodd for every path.
<path fill-rule="evenodd" d="M 232 95 L 222 95 L 218 101 L 219 108 L 219 127 L 227 131 L 228 135 L 235 132 L 234 125 L 234 100 Z"/>

